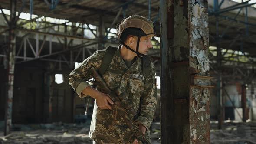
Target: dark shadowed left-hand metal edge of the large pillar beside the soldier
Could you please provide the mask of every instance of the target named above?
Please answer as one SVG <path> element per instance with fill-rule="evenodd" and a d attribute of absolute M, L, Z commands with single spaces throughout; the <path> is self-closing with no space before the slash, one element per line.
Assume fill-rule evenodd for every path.
<path fill-rule="evenodd" d="M 168 2 L 167 2 L 168 1 Z M 168 67 L 168 63 L 171 62 L 171 52 L 168 44 L 168 30 L 167 30 L 167 5 L 171 4 L 169 0 L 160 0 L 159 8 L 160 8 L 160 33 L 161 33 L 161 41 L 160 41 L 160 57 L 161 57 L 161 144 L 173 144 L 172 140 L 174 139 L 174 99 L 173 93 L 171 91 L 171 87 L 173 85 L 171 79 L 171 68 Z M 169 6 L 168 5 L 168 6 Z M 173 13 L 173 12 L 171 12 Z M 168 85 L 168 86 L 167 86 Z"/>

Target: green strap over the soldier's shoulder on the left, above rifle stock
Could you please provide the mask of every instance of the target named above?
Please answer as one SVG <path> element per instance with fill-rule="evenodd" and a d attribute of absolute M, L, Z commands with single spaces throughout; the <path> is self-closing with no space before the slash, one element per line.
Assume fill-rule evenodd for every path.
<path fill-rule="evenodd" d="M 110 65 L 110 62 L 113 59 L 113 56 L 115 54 L 115 51 L 117 50 L 116 47 L 108 46 L 105 51 L 105 55 L 102 59 L 102 64 L 100 65 L 98 72 L 100 75 L 103 75 L 106 70 L 108 69 L 108 66 Z"/>

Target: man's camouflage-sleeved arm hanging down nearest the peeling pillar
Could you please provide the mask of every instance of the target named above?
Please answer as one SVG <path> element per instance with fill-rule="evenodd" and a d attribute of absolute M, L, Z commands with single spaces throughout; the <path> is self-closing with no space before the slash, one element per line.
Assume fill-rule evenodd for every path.
<path fill-rule="evenodd" d="M 147 130 L 151 126 L 157 105 L 157 93 L 155 93 L 157 89 L 155 82 L 155 69 L 151 62 L 151 73 L 145 81 L 144 93 L 141 95 L 141 112 L 138 118 L 135 119 L 137 123 L 143 124 Z"/>

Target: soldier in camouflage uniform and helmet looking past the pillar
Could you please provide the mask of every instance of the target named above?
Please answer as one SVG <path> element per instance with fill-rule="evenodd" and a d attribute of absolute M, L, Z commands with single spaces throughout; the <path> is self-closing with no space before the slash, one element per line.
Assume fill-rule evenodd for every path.
<path fill-rule="evenodd" d="M 112 58 L 109 58 L 109 66 L 102 75 L 108 88 L 118 88 L 127 93 L 128 104 L 136 112 L 132 117 L 149 141 L 148 129 L 154 118 L 157 90 L 154 65 L 148 60 L 150 69 L 144 70 L 148 71 L 147 76 L 143 75 L 142 57 L 153 47 L 151 37 L 154 35 L 154 23 L 143 16 L 130 16 L 122 20 L 117 29 L 121 45 L 113 52 Z M 80 98 L 86 95 L 95 98 L 89 137 L 94 144 L 140 144 L 141 141 L 135 138 L 124 119 L 113 117 L 113 101 L 100 88 L 92 88 L 85 80 L 91 67 L 102 67 L 105 54 L 106 49 L 96 51 L 69 75 L 69 84 Z"/>

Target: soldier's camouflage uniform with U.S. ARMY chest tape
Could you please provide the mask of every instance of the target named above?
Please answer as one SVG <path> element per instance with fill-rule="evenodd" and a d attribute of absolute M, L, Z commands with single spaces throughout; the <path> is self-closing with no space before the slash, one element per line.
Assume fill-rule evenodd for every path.
<path fill-rule="evenodd" d="M 113 90 L 118 87 L 122 92 L 128 93 L 128 103 L 132 105 L 137 113 L 136 123 L 143 124 L 147 130 L 154 118 L 157 98 L 155 91 L 155 69 L 151 62 L 151 71 L 148 78 L 131 78 L 131 74 L 141 74 L 142 61 L 136 58 L 135 62 L 128 68 L 125 61 L 121 58 L 120 47 L 115 52 L 113 59 L 102 76 L 108 87 Z M 69 75 L 69 84 L 77 92 L 80 98 L 85 97 L 81 94 L 82 90 L 89 86 L 85 81 L 85 75 L 91 67 L 99 69 L 105 50 L 96 51 L 92 56 L 85 59 Z M 100 88 L 98 88 L 100 91 Z M 149 138 L 148 131 L 146 137 Z M 132 131 L 126 125 L 123 118 L 115 119 L 112 112 L 108 109 L 97 107 L 96 101 L 93 109 L 92 122 L 89 137 L 97 144 L 130 144 L 135 141 Z"/>

